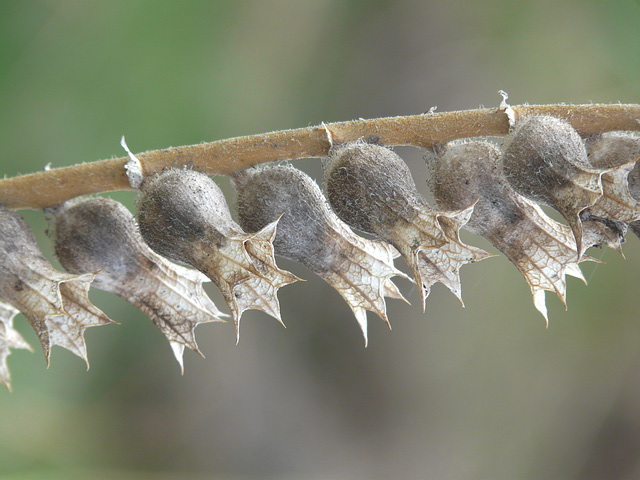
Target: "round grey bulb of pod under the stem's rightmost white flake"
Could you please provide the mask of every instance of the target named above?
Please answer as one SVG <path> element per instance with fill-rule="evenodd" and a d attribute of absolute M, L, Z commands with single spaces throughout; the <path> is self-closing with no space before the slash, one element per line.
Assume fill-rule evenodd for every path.
<path fill-rule="evenodd" d="M 502 168 L 520 195 L 554 204 L 555 193 L 589 170 L 582 138 L 564 120 L 536 115 L 520 125 L 502 157 Z"/>

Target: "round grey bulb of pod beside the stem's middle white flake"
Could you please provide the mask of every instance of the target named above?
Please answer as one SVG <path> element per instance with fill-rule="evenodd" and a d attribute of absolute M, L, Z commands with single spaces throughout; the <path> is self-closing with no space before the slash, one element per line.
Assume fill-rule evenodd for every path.
<path fill-rule="evenodd" d="M 425 204 L 404 160 L 380 145 L 337 146 L 325 161 L 324 183 L 331 207 L 344 222 L 383 238 Z"/>

